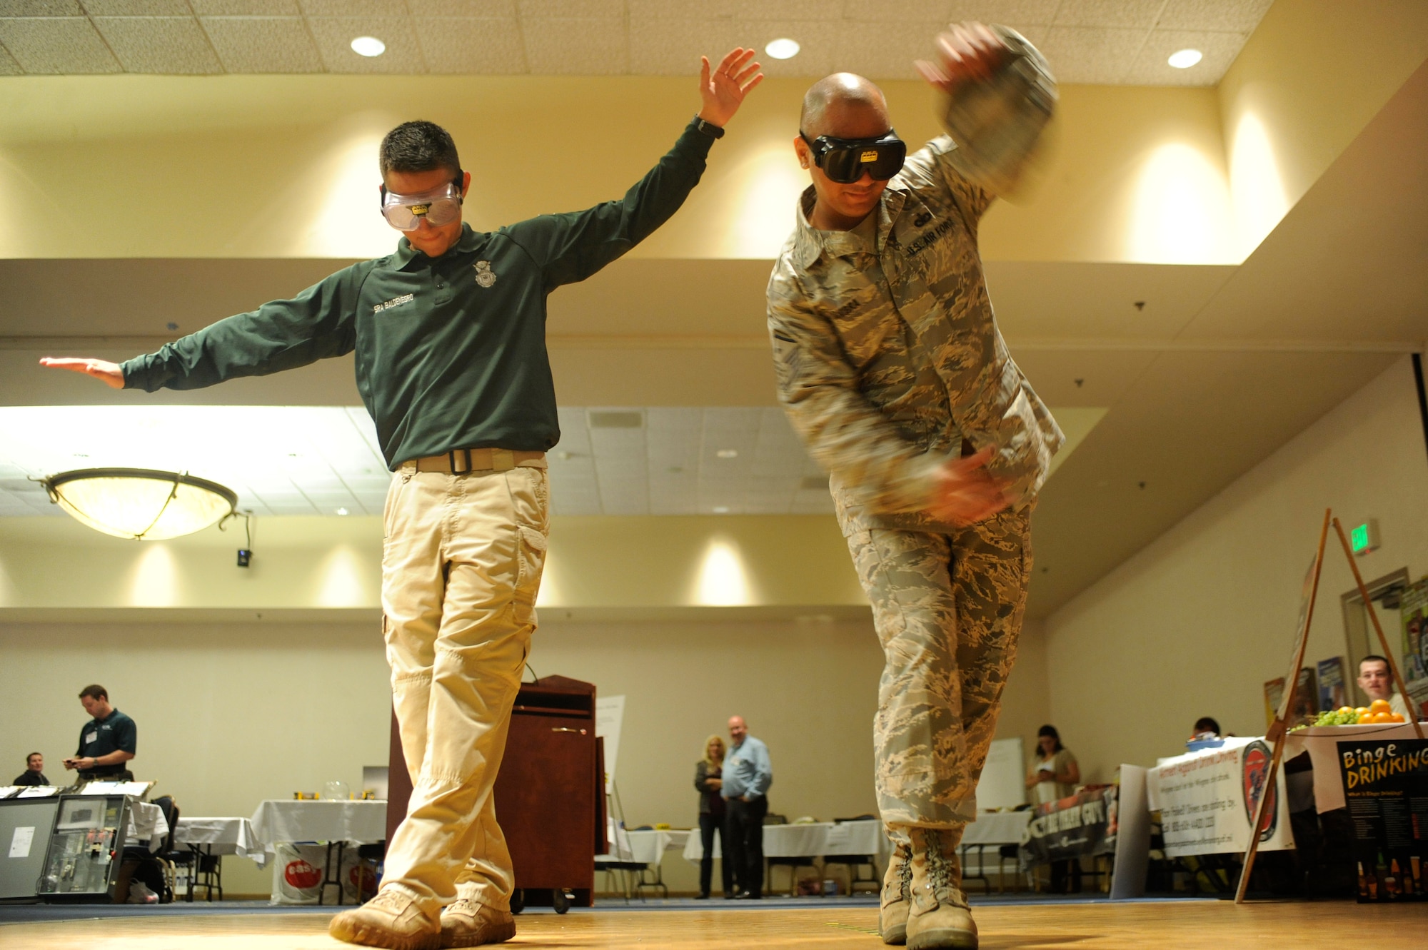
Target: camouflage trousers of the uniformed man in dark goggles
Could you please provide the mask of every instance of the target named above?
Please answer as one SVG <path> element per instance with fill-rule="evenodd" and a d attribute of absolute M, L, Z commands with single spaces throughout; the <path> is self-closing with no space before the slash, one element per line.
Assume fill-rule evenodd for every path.
<path fill-rule="evenodd" d="M 960 830 L 1017 658 L 1034 505 L 950 535 L 848 536 L 885 666 L 873 726 L 877 795 L 894 844 L 907 829 Z"/>

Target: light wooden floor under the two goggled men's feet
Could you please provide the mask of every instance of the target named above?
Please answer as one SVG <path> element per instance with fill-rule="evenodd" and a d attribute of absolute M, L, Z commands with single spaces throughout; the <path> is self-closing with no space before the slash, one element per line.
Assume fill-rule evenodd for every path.
<path fill-rule="evenodd" d="M 974 906 L 984 950 L 1075 947 L 1144 950 L 1151 946 L 1348 947 L 1389 944 L 1422 933 L 1428 906 L 1359 907 L 1349 902 L 1165 902 L 1131 904 Z M 523 914 L 510 947 L 604 949 L 788 947 L 877 950 L 877 911 L 833 906 L 768 910 L 600 910 Z M 1398 934 L 1398 937 L 1394 937 Z M 201 941 L 201 943 L 200 943 Z M 47 950 L 318 950 L 348 944 L 327 936 L 327 914 L 163 913 L 0 926 L 0 946 Z"/>

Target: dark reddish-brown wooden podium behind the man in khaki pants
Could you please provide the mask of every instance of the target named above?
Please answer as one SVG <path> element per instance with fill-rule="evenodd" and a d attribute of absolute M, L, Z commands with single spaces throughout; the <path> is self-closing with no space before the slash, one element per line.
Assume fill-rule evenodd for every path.
<path fill-rule="evenodd" d="M 565 676 L 521 683 L 506 757 L 496 779 L 496 816 L 511 849 L 511 910 L 594 906 L 595 854 L 605 853 L 601 743 L 595 686 Z M 387 840 L 407 813 L 411 782 L 391 717 Z"/>

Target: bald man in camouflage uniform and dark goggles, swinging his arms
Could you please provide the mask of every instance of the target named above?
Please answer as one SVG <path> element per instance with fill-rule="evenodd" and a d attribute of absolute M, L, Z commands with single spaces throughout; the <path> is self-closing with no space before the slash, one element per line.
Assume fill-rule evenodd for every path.
<path fill-rule="evenodd" d="M 808 91 L 794 144 L 814 184 L 768 284 L 780 399 L 830 472 L 887 658 L 880 933 L 918 949 L 977 946 L 957 847 L 1015 656 L 1031 511 L 1062 442 L 1007 352 L 977 251 L 1055 86 L 1010 30 L 957 27 L 941 50 L 920 67 L 950 94 L 957 143 L 932 140 L 901 171 L 901 153 L 880 163 L 891 127 L 875 86 L 835 74 Z M 871 164 L 838 167 L 837 148 Z"/>

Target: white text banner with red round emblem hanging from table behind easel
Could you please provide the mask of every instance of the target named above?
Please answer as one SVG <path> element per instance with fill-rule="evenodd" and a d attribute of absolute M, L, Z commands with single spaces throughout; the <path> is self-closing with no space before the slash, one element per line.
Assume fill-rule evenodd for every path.
<path fill-rule="evenodd" d="M 1167 857 L 1242 853 L 1250 823 L 1269 775 L 1274 750 L 1264 739 L 1225 739 L 1218 749 L 1164 759 L 1145 776 L 1152 812 L 1161 813 Z M 1259 850 L 1294 847 L 1284 795 L 1284 772 L 1275 776 L 1271 807 L 1259 833 Z"/>

